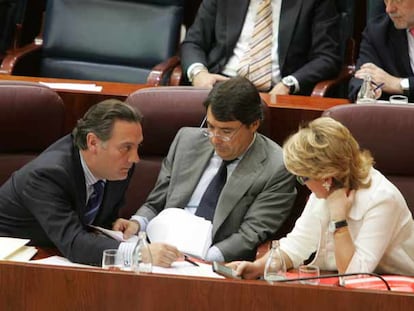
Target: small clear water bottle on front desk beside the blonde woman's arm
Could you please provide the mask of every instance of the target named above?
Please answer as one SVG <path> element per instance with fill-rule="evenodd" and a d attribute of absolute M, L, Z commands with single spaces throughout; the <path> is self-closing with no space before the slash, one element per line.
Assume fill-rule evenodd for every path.
<path fill-rule="evenodd" d="M 278 240 L 272 241 L 272 249 L 265 265 L 264 279 L 271 284 L 286 279 L 286 263 Z"/>

